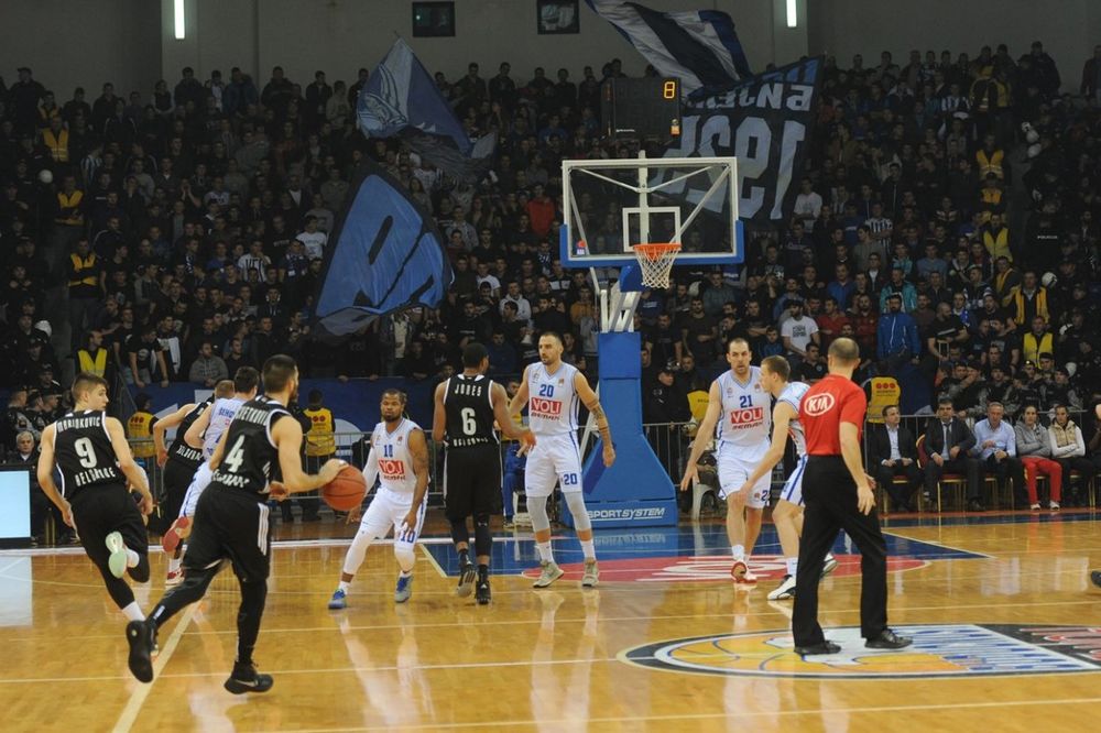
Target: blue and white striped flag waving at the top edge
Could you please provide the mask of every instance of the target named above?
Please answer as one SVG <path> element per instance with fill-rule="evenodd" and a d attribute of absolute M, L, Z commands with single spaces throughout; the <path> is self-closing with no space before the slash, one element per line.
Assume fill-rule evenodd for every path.
<path fill-rule="evenodd" d="M 686 96 L 729 87 L 752 75 L 734 22 L 718 10 L 659 12 L 636 2 L 586 0 Z"/>

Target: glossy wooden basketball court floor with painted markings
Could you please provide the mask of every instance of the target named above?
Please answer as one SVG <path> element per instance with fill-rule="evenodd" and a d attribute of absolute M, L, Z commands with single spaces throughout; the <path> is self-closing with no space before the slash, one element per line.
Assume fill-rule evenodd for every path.
<path fill-rule="evenodd" d="M 162 630 L 156 679 L 143 686 L 83 554 L 4 551 L 0 720 L 4 731 L 1093 730 L 1099 525 L 1088 511 L 892 517 L 891 623 L 922 639 L 905 654 L 866 653 L 855 638 L 859 557 L 839 539 L 821 617 L 843 648 L 809 660 L 789 649 L 791 602 L 765 599 L 782 572 L 771 532 L 754 561 L 767 578 L 749 592 L 723 580 L 713 523 L 598 533 L 591 591 L 576 573 L 532 590 L 520 575 L 535 565 L 531 536 L 498 532 L 503 575 L 486 608 L 453 595 L 454 555 L 436 532 L 407 604 L 393 603 L 396 565 L 379 545 L 349 608 L 330 612 L 351 528 L 294 525 L 282 538 L 299 539 L 274 550 L 257 650 L 275 687 L 252 698 L 221 687 L 236 638 L 229 572 Z M 555 546 L 576 568 L 571 535 Z M 163 590 L 164 557 L 151 559 L 154 580 L 138 589 L 146 609 Z"/>

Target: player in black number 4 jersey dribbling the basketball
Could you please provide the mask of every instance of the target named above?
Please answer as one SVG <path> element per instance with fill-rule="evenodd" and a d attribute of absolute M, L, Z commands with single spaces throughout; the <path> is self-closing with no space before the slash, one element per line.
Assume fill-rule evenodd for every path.
<path fill-rule="evenodd" d="M 143 682 L 153 680 L 150 655 L 157 630 L 184 606 L 203 598 L 229 560 L 241 586 L 241 605 L 237 614 L 237 660 L 225 687 L 233 694 L 271 689 L 271 676 L 259 674 L 252 661 L 268 597 L 268 500 L 282 501 L 292 493 L 319 489 L 333 481 L 346 463 L 331 459 L 316 475 L 302 471 L 302 425 L 286 409 L 298 391 L 294 359 L 283 354 L 270 358 L 264 362 L 263 382 L 264 396 L 241 405 L 210 458 L 214 479 L 195 510 L 195 529 L 184 556 L 184 581 L 161 599 L 148 621 L 127 625 L 130 671 Z M 276 462 L 282 482 L 271 478 Z"/>

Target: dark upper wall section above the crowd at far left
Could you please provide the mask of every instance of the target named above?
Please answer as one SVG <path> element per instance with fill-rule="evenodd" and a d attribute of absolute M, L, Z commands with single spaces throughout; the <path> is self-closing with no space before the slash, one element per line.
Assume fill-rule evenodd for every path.
<path fill-rule="evenodd" d="M 30 66 L 58 102 L 85 87 L 89 101 L 103 81 L 144 98 L 160 76 L 161 9 L 156 0 L 0 0 L 0 76 L 17 80 Z"/>

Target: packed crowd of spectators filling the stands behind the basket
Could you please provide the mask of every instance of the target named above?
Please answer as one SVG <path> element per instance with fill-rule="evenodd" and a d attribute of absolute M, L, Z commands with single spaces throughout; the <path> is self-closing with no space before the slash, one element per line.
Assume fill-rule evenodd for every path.
<path fill-rule="evenodd" d="M 687 419 L 683 395 L 706 389 L 739 335 L 810 381 L 830 341 L 852 336 L 861 378 L 894 375 L 930 412 L 946 395 L 959 415 L 998 402 L 1046 422 L 1056 405 L 1097 402 L 1099 58 L 1084 98 L 1060 94 L 1039 43 L 1016 57 L 1002 45 L 827 59 L 793 219 L 753 232 L 743 266 L 675 269 L 667 291 L 644 294 L 646 419 Z M 598 133 L 601 79 L 621 76 L 619 62 L 575 70 L 436 74 L 471 139 L 499 135 L 492 173 L 469 185 L 359 132 L 368 69 L 303 86 L 280 67 L 266 80 L 185 68 L 151 92 L 103 83 L 92 98 L 20 68 L 0 83 L 4 442 L 63 408 L 74 371 L 209 386 L 286 352 L 310 376 L 437 380 L 477 339 L 509 375 L 554 330 L 595 378 L 592 285 L 557 255 L 559 164 L 634 156 L 639 143 Z M 439 308 L 334 347 L 309 339 L 310 305 L 364 157 L 435 215 L 455 282 Z"/>

